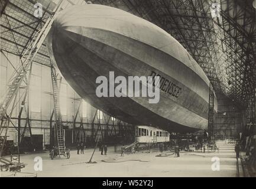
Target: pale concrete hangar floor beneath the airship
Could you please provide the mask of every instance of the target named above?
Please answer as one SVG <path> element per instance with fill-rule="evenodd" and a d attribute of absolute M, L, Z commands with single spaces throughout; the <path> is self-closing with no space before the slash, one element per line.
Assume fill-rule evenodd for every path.
<path fill-rule="evenodd" d="M 155 157 L 160 152 L 137 152 L 120 154 L 109 147 L 108 155 L 100 155 L 96 149 L 93 161 L 86 164 L 93 149 L 86 149 L 85 154 L 77 155 L 71 151 L 70 159 L 54 158 L 47 153 L 22 155 L 21 161 L 27 164 L 22 172 L 36 172 L 37 177 L 237 177 L 236 159 L 233 144 L 218 142 L 218 152 L 181 152 L 176 158 Z M 34 171 L 34 158 L 43 159 L 43 171 Z M 212 171 L 212 157 L 220 158 L 220 171 Z"/>

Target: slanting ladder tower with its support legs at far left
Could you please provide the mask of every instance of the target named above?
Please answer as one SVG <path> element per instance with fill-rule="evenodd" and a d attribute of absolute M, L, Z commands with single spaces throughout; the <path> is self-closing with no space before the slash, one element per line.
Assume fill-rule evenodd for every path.
<path fill-rule="evenodd" d="M 19 118 L 21 117 L 22 110 L 25 106 L 25 100 L 27 99 L 28 87 L 30 84 L 30 75 L 31 75 L 31 67 L 35 56 L 37 55 L 38 51 L 40 50 L 41 45 L 44 43 L 44 40 L 47 37 L 48 32 L 51 29 L 51 25 L 53 24 L 56 15 L 61 9 L 61 5 L 63 4 L 63 0 L 60 0 L 56 5 L 53 13 L 45 22 L 44 26 L 41 30 L 37 31 L 34 35 L 30 43 L 28 44 L 27 49 L 24 51 L 20 58 L 20 67 L 15 69 L 14 73 L 11 76 L 11 79 L 8 82 L 7 90 L 0 101 L 0 138 L 1 138 L 1 156 L 2 152 L 5 149 L 6 141 L 7 141 L 7 133 L 10 124 L 13 125 L 11 122 L 12 113 L 14 111 L 15 106 L 17 106 L 18 100 L 18 92 L 20 89 L 25 89 L 25 93 L 23 96 L 23 100 L 21 103 L 21 110 L 19 113 Z M 55 92 L 55 91 L 54 91 Z M 55 105 L 55 104 L 54 104 Z M 58 109 L 59 107 L 56 107 Z M 27 112 L 28 113 L 28 112 Z M 28 117 L 28 116 L 27 116 Z M 29 117 L 28 117 L 29 118 Z M 29 120 L 27 121 L 26 125 L 29 125 Z M 28 126 L 30 128 L 30 126 Z M 61 131 L 61 129 L 60 129 Z M 31 135 L 31 130 L 30 130 Z M 18 125 L 18 148 L 20 145 L 20 136 L 22 136 L 20 132 L 20 123 Z M 2 157 L 1 157 L 2 159 Z M 15 158 L 17 159 L 17 158 Z M 20 162 L 20 158 L 18 156 L 18 162 Z"/>

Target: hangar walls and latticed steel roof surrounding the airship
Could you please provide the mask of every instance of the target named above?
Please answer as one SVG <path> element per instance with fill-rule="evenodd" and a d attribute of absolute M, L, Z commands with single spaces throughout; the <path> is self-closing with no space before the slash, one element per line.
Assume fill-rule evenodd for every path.
<path fill-rule="evenodd" d="M 17 74 L 22 56 L 54 14 L 58 2 L 1 1 L 1 99 L 12 87 L 9 80 Z M 37 3 L 43 5 L 41 18 L 34 16 Z M 241 140 L 241 148 L 249 157 L 254 156 L 252 167 L 255 167 L 255 150 L 254 154 L 251 152 L 256 145 L 255 1 L 92 0 L 89 3 L 130 12 L 179 41 L 205 71 L 218 99 L 218 112 L 213 113 L 213 105 L 209 103 L 209 135 L 215 139 Z M 85 4 L 83 0 L 66 0 L 60 9 Z M 19 145 L 19 157 L 20 153 L 40 152 L 54 145 L 54 82 L 60 87 L 58 99 L 66 146 L 72 149 L 76 148 L 77 142 L 84 142 L 88 147 L 98 142 L 109 146 L 134 142 L 134 125 L 90 105 L 61 74 L 57 73 L 53 81 L 45 41 L 28 70 L 8 107 L 2 106 L 4 102 L 1 102 L 0 113 L 5 110 L 1 115 L 1 156 L 10 155 L 9 145 Z M 186 135 L 196 133 L 182 133 L 182 136 Z"/>

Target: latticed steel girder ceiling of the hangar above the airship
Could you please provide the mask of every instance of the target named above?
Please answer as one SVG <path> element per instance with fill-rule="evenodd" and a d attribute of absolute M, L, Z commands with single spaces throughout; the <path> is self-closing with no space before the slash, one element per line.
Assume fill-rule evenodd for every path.
<path fill-rule="evenodd" d="M 58 0 L 2 0 L 1 51 L 22 56 Z M 43 18 L 34 17 L 34 4 L 43 5 Z M 94 0 L 124 9 L 169 32 L 199 63 L 215 91 L 242 107 L 251 103 L 256 86 L 256 27 L 253 0 Z M 63 8 L 86 4 L 66 0 Z M 35 62 L 49 66 L 46 44 Z"/>

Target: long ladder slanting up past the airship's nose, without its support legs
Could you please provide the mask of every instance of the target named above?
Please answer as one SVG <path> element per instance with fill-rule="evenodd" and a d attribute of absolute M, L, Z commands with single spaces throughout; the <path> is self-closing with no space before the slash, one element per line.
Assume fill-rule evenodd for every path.
<path fill-rule="evenodd" d="M 51 29 L 51 25 L 53 24 L 54 19 L 60 11 L 63 2 L 63 0 L 58 2 L 56 8 L 53 10 L 53 14 L 51 14 L 46 21 L 46 24 L 44 24 L 43 28 L 41 28 L 41 30 L 39 30 L 31 40 L 27 50 L 20 58 L 20 67 L 18 67 L 18 69 L 15 70 L 12 74 L 11 79 L 7 85 L 6 93 L 0 101 L 0 139 L 2 143 L 1 154 L 5 146 L 5 142 L 7 141 L 7 132 L 11 122 L 12 111 L 15 107 L 15 101 L 17 99 L 17 94 L 21 83 L 23 80 L 27 80 L 27 73 L 28 70 L 30 70 L 34 57 L 40 49 L 41 45 L 44 43 L 44 40 L 46 39 L 47 34 Z M 9 113 L 7 113 L 8 107 L 11 107 Z M 63 131 L 63 129 L 60 129 L 60 131 Z"/>

